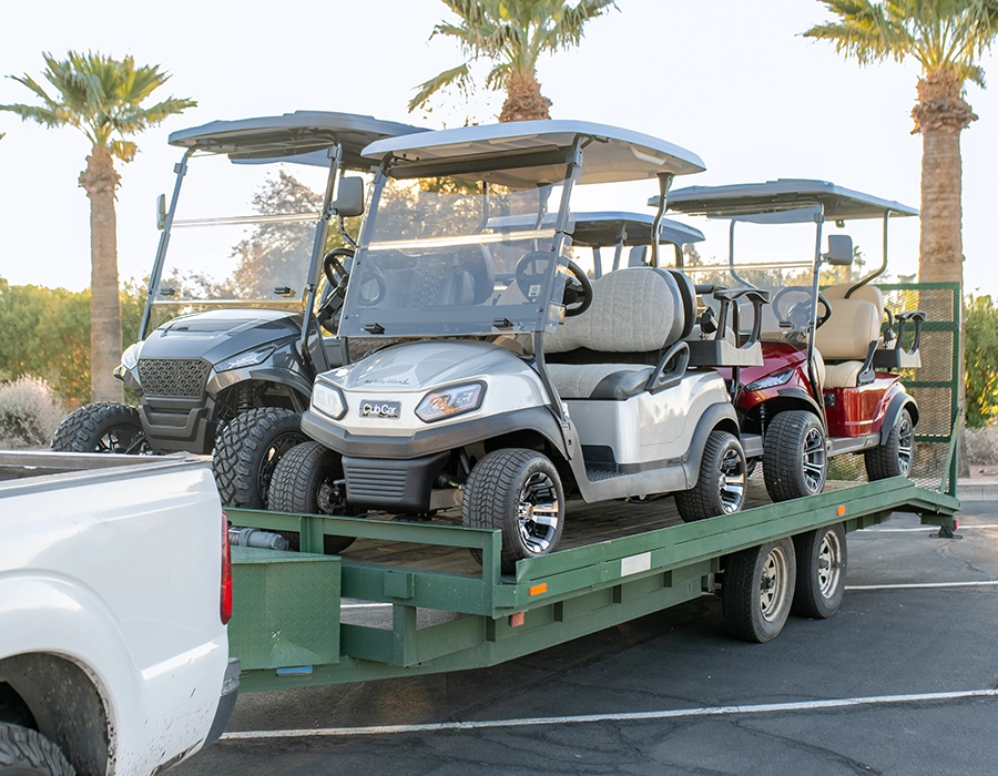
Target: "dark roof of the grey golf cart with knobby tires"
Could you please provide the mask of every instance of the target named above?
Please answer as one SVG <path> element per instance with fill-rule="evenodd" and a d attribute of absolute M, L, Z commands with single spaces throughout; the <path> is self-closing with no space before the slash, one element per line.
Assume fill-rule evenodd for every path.
<path fill-rule="evenodd" d="M 417 126 L 373 116 L 326 111 L 295 111 L 279 116 L 213 121 L 170 134 L 170 144 L 213 154 L 233 162 L 275 162 L 328 166 L 327 149 L 343 144 L 344 165 L 367 169 L 360 152 L 383 137 L 424 132 Z"/>

